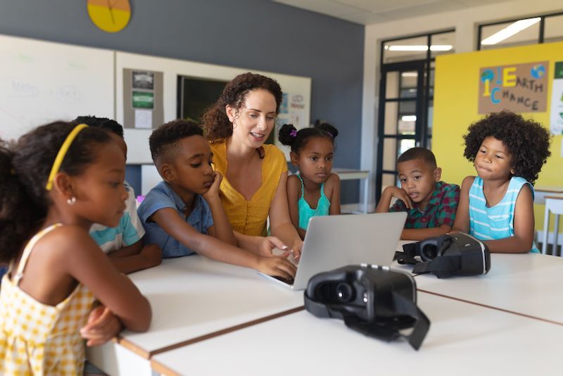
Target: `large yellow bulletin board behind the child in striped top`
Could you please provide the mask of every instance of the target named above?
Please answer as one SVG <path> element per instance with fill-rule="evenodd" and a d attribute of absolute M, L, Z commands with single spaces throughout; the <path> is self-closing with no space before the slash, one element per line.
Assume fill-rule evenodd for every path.
<path fill-rule="evenodd" d="M 461 184 L 465 176 L 476 175 L 472 163 L 463 156 L 462 135 L 471 123 L 483 117 L 483 108 L 510 108 L 519 109 L 515 112 L 542 123 L 554 134 L 552 156 L 543 166 L 536 186 L 563 186 L 562 132 L 556 121 L 559 106 L 563 113 L 563 76 L 557 78 L 563 66 L 561 51 L 563 42 L 436 58 L 432 151 L 443 169 L 445 182 Z M 542 220 L 540 206 L 536 208 L 536 228 L 542 228 Z"/>

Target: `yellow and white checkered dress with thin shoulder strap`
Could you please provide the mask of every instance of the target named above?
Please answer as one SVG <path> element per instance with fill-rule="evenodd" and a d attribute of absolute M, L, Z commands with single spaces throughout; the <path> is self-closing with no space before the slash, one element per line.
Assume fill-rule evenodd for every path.
<path fill-rule="evenodd" d="M 79 330 L 87 322 L 94 295 L 79 284 L 64 301 L 47 306 L 18 287 L 34 245 L 58 226 L 35 234 L 13 280 L 11 273 L 2 279 L 0 375 L 82 375 L 84 342 Z"/>

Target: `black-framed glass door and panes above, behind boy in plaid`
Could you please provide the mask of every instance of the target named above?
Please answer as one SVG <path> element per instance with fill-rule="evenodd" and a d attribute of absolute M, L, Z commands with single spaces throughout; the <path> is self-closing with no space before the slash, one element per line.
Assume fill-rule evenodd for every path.
<path fill-rule="evenodd" d="M 377 200 L 384 187 L 398 184 L 396 161 L 401 153 L 414 146 L 430 148 L 434 61 L 453 53 L 453 30 L 381 42 Z"/>

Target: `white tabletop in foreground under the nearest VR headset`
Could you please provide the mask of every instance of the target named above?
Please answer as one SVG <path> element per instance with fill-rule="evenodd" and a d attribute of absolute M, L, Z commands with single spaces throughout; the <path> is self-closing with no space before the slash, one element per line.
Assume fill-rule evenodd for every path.
<path fill-rule="evenodd" d="M 563 327 L 418 294 L 419 351 L 301 311 L 153 357 L 165 375 L 560 375 Z M 546 351 L 547 350 L 547 351 Z"/>

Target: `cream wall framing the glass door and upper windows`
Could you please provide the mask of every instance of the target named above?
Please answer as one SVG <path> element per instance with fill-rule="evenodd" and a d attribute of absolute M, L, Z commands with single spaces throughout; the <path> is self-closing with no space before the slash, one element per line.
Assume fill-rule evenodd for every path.
<path fill-rule="evenodd" d="M 455 29 L 455 51 L 469 52 L 476 49 L 477 25 L 511 20 L 526 16 L 555 13 L 563 10 L 559 0 L 513 0 L 487 5 L 486 1 L 463 0 L 473 6 L 464 10 L 448 11 L 448 4 L 441 1 L 424 4 L 425 8 L 435 7 L 430 15 L 389 20 L 386 23 L 367 25 L 364 46 L 364 85 L 362 105 L 362 153 L 360 167 L 375 171 L 377 166 L 377 113 L 379 111 L 379 61 L 381 41 L 426 32 Z M 483 4 L 484 5 L 479 5 Z M 462 152 L 462 151 L 461 151 Z M 369 197 L 374 200 L 375 177 L 370 184 Z M 374 203 L 371 203 L 374 208 Z"/>

